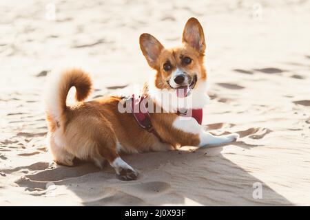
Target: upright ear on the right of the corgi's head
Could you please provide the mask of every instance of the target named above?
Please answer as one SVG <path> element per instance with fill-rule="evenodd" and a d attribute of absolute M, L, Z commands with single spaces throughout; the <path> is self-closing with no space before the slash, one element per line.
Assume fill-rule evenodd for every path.
<path fill-rule="evenodd" d="M 187 43 L 200 54 L 205 53 L 205 34 L 203 34 L 203 27 L 195 18 L 190 18 L 183 31 L 183 43 Z"/>

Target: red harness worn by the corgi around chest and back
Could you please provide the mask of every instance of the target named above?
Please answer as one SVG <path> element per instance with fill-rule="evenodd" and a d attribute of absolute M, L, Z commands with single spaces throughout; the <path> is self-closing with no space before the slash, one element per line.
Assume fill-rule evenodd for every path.
<path fill-rule="evenodd" d="M 147 109 L 147 102 L 143 102 L 145 100 L 146 96 L 138 96 L 136 98 L 134 94 L 131 97 L 132 101 L 132 113 L 134 115 L 134 118 L 136 119 L 136 122 L 145 130 L 147 130 L 149 133 L 153 133 L 158 139 L 163 142 L 161 139 L 161 136 L 158 135 L 156 130 L 154 129 L 152 122 L 151 122 L 151 116 L 149 115 L 149 111 Z M 192 115 L 189 116 L 187 112 L 180 113 L 178 111 L 178 115 L 182 115 L 184 117 L 192 117 L 195 118 L 198 124 L 201 124 L 203 122 L 203 109 L 191 109 Z"/>

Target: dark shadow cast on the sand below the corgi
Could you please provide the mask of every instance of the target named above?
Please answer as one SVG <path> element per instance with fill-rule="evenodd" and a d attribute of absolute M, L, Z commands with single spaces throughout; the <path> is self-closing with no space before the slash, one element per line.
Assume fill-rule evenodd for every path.
<path fill-rule="evenodd" d="M 253 136 L 258 131 L 262 135 Z M 247 140 L 249 136 L 254 139 L 262 138 L 269 132 L 264 129 L 248 129 L 238 133 Z M 234 146 L 237 152 L 226 151 L 225 146 L 199 149 L 185 147 L 180 151 L 124 155 L 123 159 L 140 173 L 136 181 L 116 179 L 110 166 L 100 170 L 90 163 L 74 167 L 48 167 L 45 163 L 40 164 L 41 170 L 37 173 L 25 175 L 25 178 L 16 183 L 37 196 L 50 196 L 54 193 L 56 197 L 61 193 L 57 187 L 65 186 L 86 206 L 189 203 L 206 206 L 291 205 L 285 197 L 225 157 L 233 154 L 238 160 L 238 152 L 259 147 L 257 144 L 246 141 L 230 143 L 229 146 Z M 52 185 L 56 187 L 53 188 Z"/>

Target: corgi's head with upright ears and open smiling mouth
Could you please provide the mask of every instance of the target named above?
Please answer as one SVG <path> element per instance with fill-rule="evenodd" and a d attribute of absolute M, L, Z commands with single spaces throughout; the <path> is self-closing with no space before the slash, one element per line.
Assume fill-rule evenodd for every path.
<path fill-rule="evenodd" d="M 141 34 L 140 47 L 147 63 L 156 69 L 154 86 L 168 89 L 177 98 L 186 98 L 205 83 L 207 73 L 203 65 L 205 35 L 199 21 L 191 18 L 183 30 L 183 45 L 166 49 L 151 34 Z"/>

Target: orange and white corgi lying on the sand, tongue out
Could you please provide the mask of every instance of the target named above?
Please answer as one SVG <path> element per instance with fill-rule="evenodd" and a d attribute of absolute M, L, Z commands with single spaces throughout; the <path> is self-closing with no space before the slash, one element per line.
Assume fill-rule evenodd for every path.
<path fill-rule="evenodd" d="M 90 95 L 92 81 L 83 70 L 68 69 L 50 76 L 45 112 L 48 145 L 54 161 L 72 166 L 77 157 L 101 168 L 108 162 L 118 179 L 134 180 L 138 173 L 121 159 L 121 153 L 171 151 L 180 146 L 203 147 L 235 141 L 236 133 L 211 135 L 204 131 L 201 121 L 178 113 L 180 109 L 201 110 L 209 99 L 205 36 L 197 19 L 187 21 L 182 43 L 181 47 L 166 49 L 151 34 L 140 36 L 143 55 L 155 70 L 141 96 L 161 110 L 143 113 L 143 117 L 146 115 L 143 122 L 147 119 L 144 127 L 141 113 L 120 111 L 120 104 L 124 104 L 121 96 L 84 102 Z M 68 106 L 66 98 L 71 87 L 76 88 L 77 102 Z M 163 98 L 167 94 L 169 98 Z"/>

